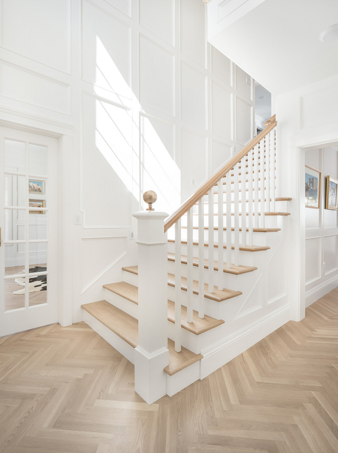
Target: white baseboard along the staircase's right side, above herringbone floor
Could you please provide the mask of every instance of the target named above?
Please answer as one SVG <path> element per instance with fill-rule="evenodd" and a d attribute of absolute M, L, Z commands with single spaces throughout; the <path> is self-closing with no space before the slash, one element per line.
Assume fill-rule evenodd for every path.
<path fill-rule="evenodd" d="M 230 360 L 255 345 L 262 338 L 290 321 L 290 306 L 284 305 L 260 320 L 201 351 L 200 379 L 218 370 Z"/>

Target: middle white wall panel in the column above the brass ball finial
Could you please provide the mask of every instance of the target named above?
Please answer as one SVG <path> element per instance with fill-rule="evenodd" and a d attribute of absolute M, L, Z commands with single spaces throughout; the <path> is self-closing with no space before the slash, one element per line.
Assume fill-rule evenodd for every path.
<path fill-rule="evenodd" d="M 174 56 L 139 35 L 139 101 L 174 115 Z"/>

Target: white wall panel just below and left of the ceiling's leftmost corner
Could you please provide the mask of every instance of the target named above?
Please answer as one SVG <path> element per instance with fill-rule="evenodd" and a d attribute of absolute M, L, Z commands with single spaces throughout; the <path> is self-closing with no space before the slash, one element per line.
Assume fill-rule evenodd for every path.
<path fill-rule="evenodd" d="M 181 119 L 206 128 L 206 78 L 181 61 Z"/>

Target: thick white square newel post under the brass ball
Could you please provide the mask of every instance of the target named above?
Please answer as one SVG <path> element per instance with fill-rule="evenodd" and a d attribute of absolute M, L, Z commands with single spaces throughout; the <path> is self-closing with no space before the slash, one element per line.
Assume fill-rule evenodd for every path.
<path fill-rule="evenodd" d="M 165 212 L 133 214 L 138 230 L 138 346 L 135 349 L 135 391 L 148 403 L 166 395 L 167 233 Z"/>

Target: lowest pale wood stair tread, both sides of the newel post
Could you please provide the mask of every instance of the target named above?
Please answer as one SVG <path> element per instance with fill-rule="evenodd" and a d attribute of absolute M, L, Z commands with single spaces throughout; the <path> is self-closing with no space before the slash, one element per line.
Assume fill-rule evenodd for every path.
<path fill-rule="evenodd" d="M 138 321 L 133 316 L 107 301 L 92 302 L 81 307 L 130 346 L 133 348 L 138 346 Z M 170 376 L 203 358 L 202 354 L 195 354 L 183 347 L 181 352 L 176 352 L 175 343 L 170 338 L 168 338 L 168 351 L 169 365 L 164 368 L 164 371 Z"/>

